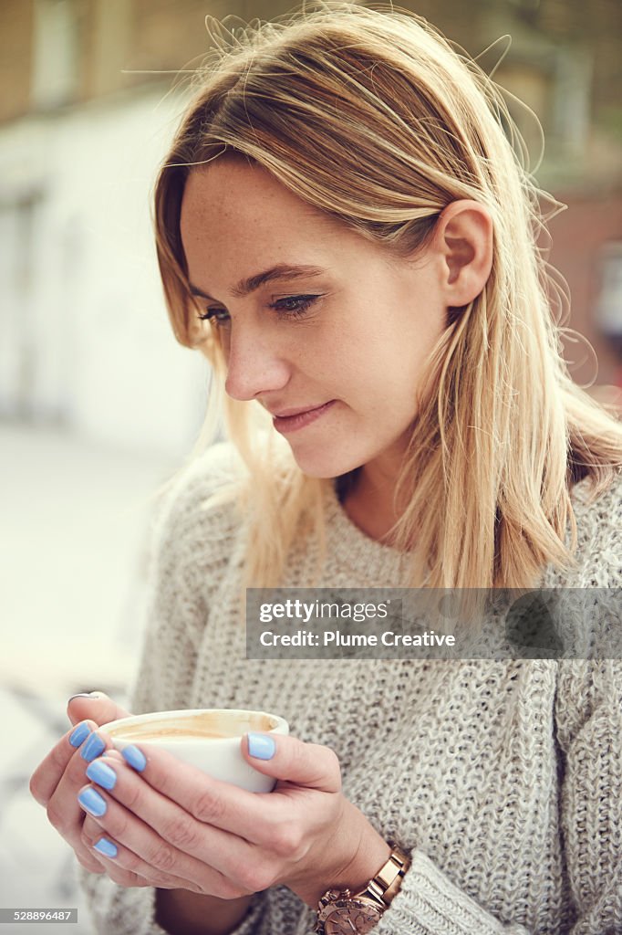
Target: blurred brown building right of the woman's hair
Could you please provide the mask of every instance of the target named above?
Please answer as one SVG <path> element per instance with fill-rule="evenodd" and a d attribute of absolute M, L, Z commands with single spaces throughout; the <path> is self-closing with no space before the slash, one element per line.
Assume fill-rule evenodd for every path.
<path fill-rule="evenodd" d="M 568 206 L 549 224 L 548 260 L 570 288 L 567 326 L 593 348 L 572 335 L 564 341 L 573 378 L 622 386 L 622 4 L 421 0 L 407 6 L 480 56 L 509 93 L 531 171 Z"/>

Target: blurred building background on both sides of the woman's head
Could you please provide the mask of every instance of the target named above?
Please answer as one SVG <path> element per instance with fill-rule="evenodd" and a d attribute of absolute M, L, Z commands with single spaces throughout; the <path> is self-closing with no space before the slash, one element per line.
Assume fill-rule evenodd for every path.
<path fill-rule="evenodd" d="M 569 210 L 551 262 L 570 325 L 618 379 L 622 105 L 618 0 L 420 0 L 510 94 L 541 185 Z M 56 421 L 124 445 L 187 446 L 207 373 L 163 309 L 149 193 L 205 15 L 266 19 L 267 0 L 4 0 L 0 8 L 0 416 Z M 229 22 L 228 24 L 231 24 Z M 512 35 L 512 43 L 501 36 Z M 176 77 L 177 75 L 177 77 Z M 540 122 L 533 116 L 538 114 Z M 544 159 L 542 131 L 546 140 Z M 596 376 L 568 343 L 573 375 Z"/>

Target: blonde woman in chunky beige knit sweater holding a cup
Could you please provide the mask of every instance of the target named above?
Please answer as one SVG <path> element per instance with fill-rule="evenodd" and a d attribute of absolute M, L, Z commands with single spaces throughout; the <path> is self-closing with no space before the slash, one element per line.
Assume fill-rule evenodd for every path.
<path fill-rule="evenodd" d="M 402 12 L 220 45 L 156 228 L 233 445 L 165 500 L 132 707 L 293 736 L 244 739 L 278 781 L 252 796 L 126 762 L 94 729 L 123 712 L 74 698 L 35 798 L 106 933 L 293 935 L 318 903 L 327 933 L 621 932 L 618 662 L 284 666 L 239 626 L 241 583 L 620 585 L 622 431 L 559 354 L 502 98 Z"/>

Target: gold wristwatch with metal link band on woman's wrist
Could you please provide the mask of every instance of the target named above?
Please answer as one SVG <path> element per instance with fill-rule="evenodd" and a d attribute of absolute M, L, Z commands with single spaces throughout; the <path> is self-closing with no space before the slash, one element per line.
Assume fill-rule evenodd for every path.
<path fill-rule="evenodd" d="M 387 863 L 359 893 L 327 890 L 319 900 L 316 931 L 319 935 L 370 932 L 400 889 L 406 870 L 408 858 L 394 847 Z"/>

